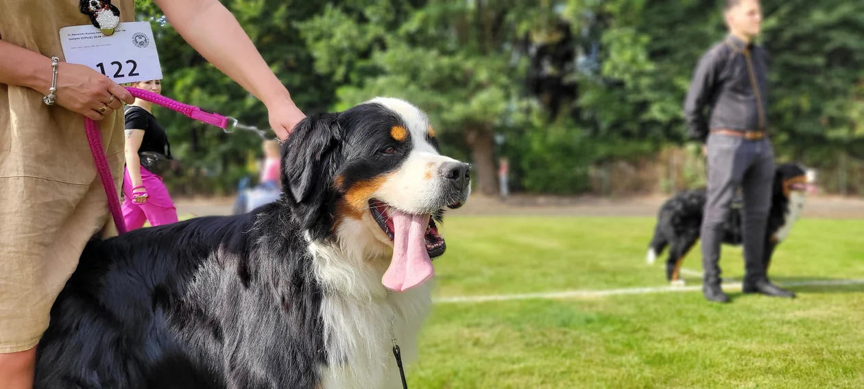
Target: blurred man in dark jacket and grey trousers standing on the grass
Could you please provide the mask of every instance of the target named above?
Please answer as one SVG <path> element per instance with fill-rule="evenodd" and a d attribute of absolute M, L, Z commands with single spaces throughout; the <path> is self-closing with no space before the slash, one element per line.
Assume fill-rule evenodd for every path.
<path fill-rule="evenodd" d="M 706 144 L 708 203 L 702 220 L 702 293 L 727 303 L 720 285 L 722 223 L 735 191 L 743 193 L 746 275 L 743 292 L 793 298 L 773 284 L 763 261 L 774 177 L 767 117 L 771 58 L 755 45 L 762 12 L 758 0 L 727 0 L 727 37 L 702 55 L 684 102 L 688 135 Z M 709 110 L 709 114 L 704 112 Z"/>

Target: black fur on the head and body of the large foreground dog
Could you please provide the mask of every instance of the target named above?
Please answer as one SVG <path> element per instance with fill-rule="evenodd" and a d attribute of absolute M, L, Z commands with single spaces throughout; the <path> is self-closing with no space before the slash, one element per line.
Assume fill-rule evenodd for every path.
<path fill-rule="evenodd" d="M 310 116 L 283 145 L 275 203 L 89 242 L 38 345 L 35 387 L 320 384 L 323 291 L 302 231 L 331 237 L 343 189 L 400 165 L 399 121 L 378 104 Z"/>

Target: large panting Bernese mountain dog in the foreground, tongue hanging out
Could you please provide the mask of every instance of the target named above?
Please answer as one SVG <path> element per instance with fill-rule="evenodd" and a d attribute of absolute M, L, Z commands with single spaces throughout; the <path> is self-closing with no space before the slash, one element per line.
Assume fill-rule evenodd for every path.
<path fill-rule="evenodd" d="M 88 242 L 35 387 L 402 387 L 469 166 L 381 97 L 304 119 L 282 158 L 274 203 Z"/>

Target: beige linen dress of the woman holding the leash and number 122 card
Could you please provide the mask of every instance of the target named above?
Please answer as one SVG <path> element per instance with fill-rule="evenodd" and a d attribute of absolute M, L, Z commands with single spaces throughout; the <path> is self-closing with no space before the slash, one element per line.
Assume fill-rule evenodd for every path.
<path fill-rule="evenodd" d="M 112 3 L 121 22 L 134 22 L 132 0 Z M 60 28 L 91 24 L 79 0 L 0 0 L 0 9 L 0 39 L 61 61 Z M 100 230 L 116 235 L 84 116 L 48 106 L 42 97 L 0 84 L 0 353 L 39 342 L 87 240 Z M 123 112 L 106 116 L 99 127 L 119 191 Z"/>

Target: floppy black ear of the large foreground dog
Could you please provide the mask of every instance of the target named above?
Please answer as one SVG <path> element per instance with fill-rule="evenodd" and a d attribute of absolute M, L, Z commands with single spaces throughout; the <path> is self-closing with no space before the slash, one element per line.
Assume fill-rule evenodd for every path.
<path fill-rule="evenodd" d="M 333 179 L 342 141 L 339 114 L 316 114 L 298 123 L 282 147 L 284 198 L 303 229 L 326 227 L 334 206 Z M 321 223 L 323 222 L 323 223 Z M 313 235 L 316 231 L 313 231 Z M 316 236 L 319 237 L 319 236 Z"/>

